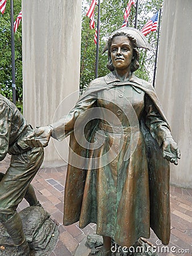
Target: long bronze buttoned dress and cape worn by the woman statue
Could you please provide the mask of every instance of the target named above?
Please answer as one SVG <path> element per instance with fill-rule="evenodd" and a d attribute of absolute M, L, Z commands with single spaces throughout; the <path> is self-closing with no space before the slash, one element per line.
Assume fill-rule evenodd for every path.
<path fill-rule="evenodd" d="M 73 127 L 77 118 L 80 123 L 89 121 L 94 112 L 86 110 L 95 107 L 99 107 L 101 117 L 96 114 L 100 119 L 93 117 L 86 125 L 85 137 L 95 145 L 103 144 L 85 149 L 77 142 Z M 109 120 L 108 113 L 118 119 Z M 84 228 L 94 222 L 97 234 L 112 237 L 120 246 L 131 246 L 139 237 L 148 238 L 151 226 L 167 244 L 169 163 L 162 158 L 160 147 L 171 135 L 152 86 L 133 74 L 129 81 L 121 82 L 110 73 L 92 81 L 65 118 L 53 124 L 53 137 L 70 134 L 64 225 L 80 221 L 80 228 Z"/>

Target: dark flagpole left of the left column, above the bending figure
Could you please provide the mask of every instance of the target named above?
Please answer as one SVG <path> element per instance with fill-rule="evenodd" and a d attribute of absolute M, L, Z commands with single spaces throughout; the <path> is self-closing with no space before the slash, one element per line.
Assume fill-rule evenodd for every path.
<path fill-rule="evenodd" d="M 14 12 L 13 0 L 11 1 L 11 63 L 12 63 L 12 102 L 16 105 L 16 86 L 15 86 L 15 42 L 14 42 Z"/>

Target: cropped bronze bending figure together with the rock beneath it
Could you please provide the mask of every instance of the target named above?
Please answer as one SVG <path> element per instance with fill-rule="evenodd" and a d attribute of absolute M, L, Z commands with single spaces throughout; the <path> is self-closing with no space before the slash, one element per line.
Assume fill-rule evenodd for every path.
<path fill-rule="evenodd" d="M 0 160 L 7 153 L 11 155 L 8 170 L 0 173 L 0 255 L 30 256 L 34 251 L 37 256 L 45 255 L 53 250 L 59 236 L 30 184 L 44 157 L 43 148 L 24 143 L 32 133 L 16 106 L 0 94 Z M 23 198 L 30 207 L 17 213 Z"/>

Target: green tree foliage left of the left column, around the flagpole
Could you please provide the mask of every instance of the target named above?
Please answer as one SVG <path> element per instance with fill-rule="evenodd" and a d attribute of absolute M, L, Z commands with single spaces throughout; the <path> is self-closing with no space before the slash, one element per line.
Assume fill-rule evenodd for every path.
<path fill-rule="evenodd" d="M 22 0 L 14 1 L 14 20 L 18 16 L 22 6 Z M 10 1 L 6 3 L 5 13 L 0 13 L 0 88 L 1 94 L 12 98 L 11 75 L 11 22 Z M 15 33 L 15 84 L 16 100 L 22 101 L 22 26 Z"/>

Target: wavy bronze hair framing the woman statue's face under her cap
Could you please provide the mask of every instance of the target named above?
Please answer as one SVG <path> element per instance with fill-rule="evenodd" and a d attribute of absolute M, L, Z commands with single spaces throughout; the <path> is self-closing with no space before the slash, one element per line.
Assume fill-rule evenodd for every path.
<path fill-rule="evenodd" d="M 132 35 L 130 35 L 128 33 L 125 33 L 123 31 L 116 31 L 115 33 L 113 33 L 108 38 L 108 63 L 107 63 L 107 68 L 110 71 L 114 71 L 114 65 L 112 65 L 112 60 L 111 60 L 111 43 L 112 43 L 112 39 L 114 39 L 115 36 L 127 36 L 127 38 L 131 40 L 131 43 L 132 43 L 132 46 L 133 46 L 133 59 L 131 61 L 130 70 L 131 70 L 131 72 L 136 71 L 139 68 L 139 51 L 136 47 L 136 39 L 133 38 Z"/>

